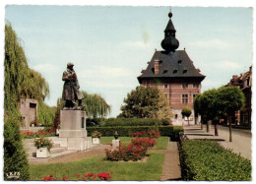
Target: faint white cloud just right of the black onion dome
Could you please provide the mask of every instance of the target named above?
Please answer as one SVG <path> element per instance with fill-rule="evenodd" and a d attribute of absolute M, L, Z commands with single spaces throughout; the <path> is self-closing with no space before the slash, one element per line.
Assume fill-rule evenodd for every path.
<path fill-rule="evenodd" d="M 221 39 L 212 39 L 212 40 L 205 40 L 205 41 L 196 41 L 193 43 L 189 43 L 191 46 L 198 46 L 198 47 L 207 47 L 207 48 L 219 48 L 225 49 L 230 48 L 232 46 L 231 43 L 226 42 Z"/>

